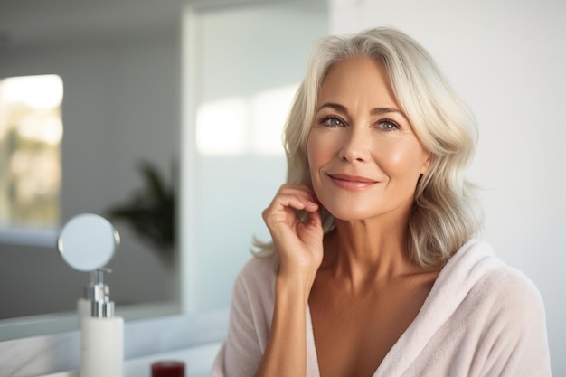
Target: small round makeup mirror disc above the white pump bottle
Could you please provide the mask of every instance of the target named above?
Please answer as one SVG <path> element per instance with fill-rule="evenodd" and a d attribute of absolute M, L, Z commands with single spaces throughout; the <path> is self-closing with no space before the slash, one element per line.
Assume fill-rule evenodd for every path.
<path fill-rule="evenodd" d="M 73 269 L 93 271 L 106 266 L 119 242 L 118 231 L 108 220 L 97 214 L 83 213 L 65 224 L 57 247 Z"/>

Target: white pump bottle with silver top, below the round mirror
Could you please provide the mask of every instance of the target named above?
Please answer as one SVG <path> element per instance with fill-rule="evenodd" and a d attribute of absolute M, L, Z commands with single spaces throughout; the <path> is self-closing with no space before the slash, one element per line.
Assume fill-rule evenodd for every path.
<path fill-rule="evenodd" d="M 114 316 L 114 302 L 99 269 L 90 316 L 80 320 L 80 377 L 122 377 L 123 363 L 124 319 Z"/>

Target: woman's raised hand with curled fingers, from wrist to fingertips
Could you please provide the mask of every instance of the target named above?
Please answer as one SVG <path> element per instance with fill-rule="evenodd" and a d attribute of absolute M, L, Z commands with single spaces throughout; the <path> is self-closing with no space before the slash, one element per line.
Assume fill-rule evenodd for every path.
<path fill-rule="evenodd" d="M 284 184 L 263 211 L 279 258 L 279 276 L 307 278 L 312 283 L 323 257 L 320 212 L 315 193 L 305 184 Z M 307 212 L 297 218 L 296 210 Z"/>

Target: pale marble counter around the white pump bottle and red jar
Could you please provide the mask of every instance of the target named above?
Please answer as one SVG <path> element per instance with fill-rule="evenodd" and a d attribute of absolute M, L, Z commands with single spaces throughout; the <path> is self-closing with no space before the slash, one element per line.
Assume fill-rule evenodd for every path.
<path fill-rule="evenodd" d="M 176 358 L 186 377 L 210 375 L 228 332 L 228 310 L 193 312 L 127 322 L 124 377 L 149 377 L 149 365 Z M 0 377 L 77 377 L 80 333 L 66 332 L 0 342 Z"/>

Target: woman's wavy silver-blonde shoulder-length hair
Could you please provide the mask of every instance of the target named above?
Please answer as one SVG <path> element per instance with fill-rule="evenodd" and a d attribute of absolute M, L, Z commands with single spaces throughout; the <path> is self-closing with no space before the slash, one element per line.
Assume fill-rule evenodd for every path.
<path fill-rule="evenodd" d="M 479 230 L 481 213 L 465 172 L 476 149 L 476 119 L 451 89 L 429 53 L 405 33 L 378 27 L 349 36 L 329 36 L 314 47 L 284 131 L 289 184 L 312 186 L 307 137 L 318 91 L 338 61 L 369 57 L 381 63 L 401 110 L 429 151 L 431 164 L 420 177 L 409 221 L 410 257 L 423 268 L 439 267 Z M 323 209 L 325 233 L 335 219 Z M 272 243 L 255 240 L 256 255 L 274 254 Z"/>

